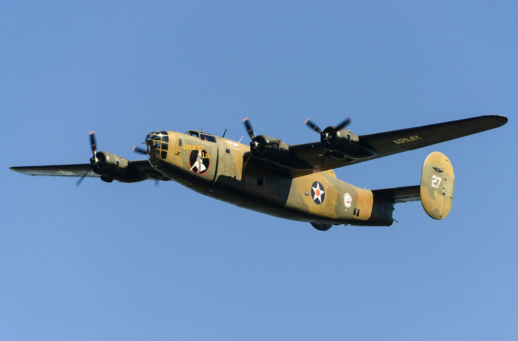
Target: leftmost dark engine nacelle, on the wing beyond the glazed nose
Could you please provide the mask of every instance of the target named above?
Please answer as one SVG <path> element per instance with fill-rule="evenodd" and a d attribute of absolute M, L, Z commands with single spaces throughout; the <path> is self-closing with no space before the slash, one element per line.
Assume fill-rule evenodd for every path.
<path fill-rule="evenodd" d="M 111 182 L 138 182 L 145 180 L 140 173 L 132 171 L 128 167 L 128 160 L 108 152 L 97 152 L 97 162 L 92 165 L 92 170 L 101 176 L 101 180 Z"/>

